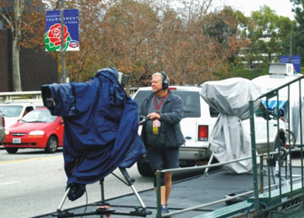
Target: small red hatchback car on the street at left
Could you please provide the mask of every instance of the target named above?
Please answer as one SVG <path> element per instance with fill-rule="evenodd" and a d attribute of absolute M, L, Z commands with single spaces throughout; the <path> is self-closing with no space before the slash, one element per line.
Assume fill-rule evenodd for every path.
<path fill-rule="evenodd" d="M 19 148 L 43 148 L 54 153 L 63 146 L 63 119 L 52 116 L 49 109 L 34 109 L 10 128 L 5 129 L 3 146 L 10 154 Z"/>

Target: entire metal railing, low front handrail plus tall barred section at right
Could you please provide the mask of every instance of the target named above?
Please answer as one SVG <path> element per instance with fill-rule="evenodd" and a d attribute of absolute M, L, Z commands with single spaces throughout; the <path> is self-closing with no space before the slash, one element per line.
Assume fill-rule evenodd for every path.
<path fill-rule="evenodd" d="M 201 172 L 203 169 L 209 169 L 212 167 L 218 167 L 218 166 L 225 166 L 227 164 L 231 164 L 234 162 L 239 162 L 242 160 L 250 159 L 252 158 L 252 183 L 253 183 L 253 190 L 249 192 L 244 192 L 241 194 L 233 195 L 230 200 L 239 198 L 240 196 L 248 196 L 252 195 L 252 197 L 248 198 L 246 201 L 249 203 L 252 203 L 250 207 L 246 208 L 247 212 L 253 213 L 254 217 L 259 217 L 266 214 L 272 214 L 272 213 L 278 213 L 278 208 L 280 210 L 288 210 L 290 207 L 285 206 L 286 204 L 294 204 L 293 200 L 297 200 L 297 204 L 301 205 L 301 211 L 304 213 L 304 174 L 303 174 L 303 128 L 302 128 L 302 93 L 301 93 L 301 81 L 304 79 L 304 76 L 299 77 L 298 79 L 294 81 L 290 81 L 283 86 L 280 86 L 279 88 L 275 90 L 271 90 L 267 92 L 264 95 L 261 95 L 257 100 L 261 100 L 263 98 L 266 99 L 266 105 L 268 105 L 268 100 L 272 98 L 276 98 L 276 100 L 279 101 L 280 99 L 280 90 L 282 89 L 288 89 L 288 109 L 290 109 L 290 85 L 295 84 L 296 82 L 299 82 L 299 130 L 300 133 L 299 137 L 299 147 L 292 147 L 295 146 L 296 138 L 293 138 L 294 135 L 290 131 L 290 113 L 288 113 L 288 122 L 286 122 L 286 137 L 284 144 L 280 145 L 278 144 L 278 147 L 275 147 L 276 149 L 271 151 L 271 145 L 269 140 L 269 120 L 267 119 L 267 152 L 264 154 L 257 154 L 257 148 L 256 148 L 256 141 L 255 141 L 255 128 L 254 128 L 254 110 L 253 110 L 253 102 L 255 100 L 251 100 L 249 102 L 250 104 L 250 122 L 251 122 L 251 142 L 252 142 L 252 156 L 247 156 L 239 159 L 235 159 L 232 161 L 227 161 L 224 163 L 218 163 L 218 164 L 208 164 L 206 166 L 194 166 L 194 167 L 185 167 L 185 168 L 176 168 L 176 169 L 166 169 L 157 171 L 157 218 L 160 217 L 169 217 L 174 214 L 178 213 L 185 213 L 188 211 L 193 211 L 199 208 L 203 208 L 206 206 L 210 206 L 213 204 L 220 204 L 223 202 L 226 202 L 227 199 L 219 199 L 214 202 L 209 202 L 206 204 L 199 204 L 195 205 L 189 208 L 185 208 L 182 210 L 178 210 L 171 213 L 161 214 L 161 195 L 160 195 L 160 175 L 165 173 L 177 173 L 177 172 Z M 278 106 L 279 107 L 279 104 Z M 279 110 L 279 108 L 277 108 Z M 269 116 L 268 109 L 266 110 L 266 117 Z M 277 127 L 278 127 L 278 133 L 280 131 L 280 116 L 277 116 L 275 118 L 277 120 Z M 278 141 L 280 137 L 278 137 Z M 285 147 L 286 145 L 289 145 L 289 147 Z M 292 152 L 299 152 L 300 154 L 300 167 L 299 171 L 300 174 L 296 175 L 293 172 L 293 165 L 292 165 L 292 159 L 290 158 L 290 155 Z M 277 157 L 277 161 L 275 161 L 274 166 L 271 164 L 271 160 L 274 160 L 274 156 Z M 260 163 L 258 163 L 257 158 L 260 159 Z M 260 167 L 259 167 L 260 166 Z M 273 175 L 273 168 L 278 169 L 278 175 Z M 282 175 L 282 171 L 285 169 L 285 175 Z M 205 171 L 206 172 L 206 171 Z M 260 177 L 259 177 L 260 175 Z M 264 181 L 264 176 L 267 175 L 267 180 Z M 271 182 L 271 178 L 273 180 L 273 177 L 276 176 L 278 183 Z M 268 184 L 268 185 L 265 185 Z M 191 197 L 191 196 L 189 196 Z M 299 200 L 298 200 L 299 199 Z M 283 209 L 282 209 L 283 208 Z M 235 212 L 235 214 L 238 214 L 240 212 Z M 288 214 L 287 212 L 286 214 Z M 242 216 L 244 217 L 244 216 Z M 272 215 L 270 216 L 272 217 Z"/>

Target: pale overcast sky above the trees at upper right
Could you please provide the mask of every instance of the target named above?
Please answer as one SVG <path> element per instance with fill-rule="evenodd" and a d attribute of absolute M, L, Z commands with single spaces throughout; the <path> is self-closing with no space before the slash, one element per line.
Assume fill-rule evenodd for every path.
<path fill-rule="evenodd" d="M 252 11 L 258 11 L 262 5 L 268 5 L 278 15 L 288 16 L 294 20 L 290 0 L 214 0 L 214 6 L 231 5 L 233 9 L 250 16 Z"/>

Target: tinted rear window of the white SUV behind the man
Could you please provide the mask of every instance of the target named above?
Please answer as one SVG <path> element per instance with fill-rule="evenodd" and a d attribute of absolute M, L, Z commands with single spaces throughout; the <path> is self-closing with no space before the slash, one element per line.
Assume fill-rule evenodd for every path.
<path fill-rule="evenodd" d="M 200 95 L 197 91 L 171 90 L 172 93 L 180 96 L 184 102 L 184 118 L 200 118 Z M 151 93 L 151 90 L 138 91 L 134 100 L 138 103 L 138 114 L 142 101 Z"/>

